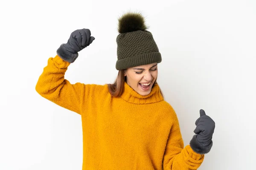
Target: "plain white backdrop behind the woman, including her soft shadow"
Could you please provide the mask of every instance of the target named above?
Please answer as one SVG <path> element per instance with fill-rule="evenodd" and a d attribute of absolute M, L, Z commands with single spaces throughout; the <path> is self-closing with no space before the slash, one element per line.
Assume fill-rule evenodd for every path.
<path fill-rule="evenodd" d="M 80 115 L 44 99 L 35 85 L 47 59 L 82 28 L 95 40 L 65 78 L 112 83 L 118 17 L 126 11 L 142 12 L 162 54 L 158 83 L 177 113 L 184 145 L 200 109 L 215 121 L 212 150 L 199 170 L 255 170 L 255 0 L 16 0 L 0 6 L 0 170 L 81 170 Z"/>

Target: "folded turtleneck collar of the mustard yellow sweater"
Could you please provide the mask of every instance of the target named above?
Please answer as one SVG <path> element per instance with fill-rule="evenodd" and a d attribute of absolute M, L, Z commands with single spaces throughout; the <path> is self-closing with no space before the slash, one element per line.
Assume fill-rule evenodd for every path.
<path fill-rule="evenodd" d="M 134 91 L 127 82 L 124 82 L 124 91 L 121 97 L 126 100 L 127 102 L 134 103 L 134 104 L 148 104 L 148 103 L 155 103 L 160 102 L 163 99 L 163 96 L 160 93 L 159 85 L 155 84 L 154 87 L 151 88 L 150 94 L 146 96 L 142 96 Z"/>

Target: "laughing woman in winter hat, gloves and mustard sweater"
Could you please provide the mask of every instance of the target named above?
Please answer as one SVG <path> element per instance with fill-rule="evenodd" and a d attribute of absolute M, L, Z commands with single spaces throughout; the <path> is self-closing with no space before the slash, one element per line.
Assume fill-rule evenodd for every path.
<path fill-rule="evenodd" d="M 36 91 L 81 115 L 83 170 L 197 169 L 212 147 L 215 123 L 203 110 L 196 133 L 184 147 L 177 115 L 157 84 L 162 61 L 141 14 L 119 18 L 113 84 L 70 84 L 64 74 L 78 52 L 90 45 L 89 29 L 73 31 L 38 79 Z"/>

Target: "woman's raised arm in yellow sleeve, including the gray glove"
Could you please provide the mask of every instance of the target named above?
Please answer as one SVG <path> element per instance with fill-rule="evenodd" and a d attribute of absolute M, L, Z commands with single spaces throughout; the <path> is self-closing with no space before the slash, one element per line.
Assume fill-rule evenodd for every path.
<path fill-rule="evenodd" d="M 67 79 L 64 79 L 64 75 L 70 63 L 78 57 L 78 52 L 90 45 L 94 39 L 90 37 L 89 29 L 73 31 L 68 42 L 58 48 L 57 55 L 48 59 L 48 64 L 35 87 L 38 94 L 61 107 L 81 114 L 81 100 L 93 85 L 84 85 L 79 82 L 70 84 Z"/>

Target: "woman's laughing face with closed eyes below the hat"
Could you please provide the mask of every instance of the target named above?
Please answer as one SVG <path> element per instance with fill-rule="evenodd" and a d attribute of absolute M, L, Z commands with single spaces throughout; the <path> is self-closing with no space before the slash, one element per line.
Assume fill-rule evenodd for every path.
<path fill-rule="evenodd" d="M 157 62 L 127 68 L 125 71 L 127 84 L 142 96 L 150 94 L 152 85 L 157 79 L 157 74 Z"/>

